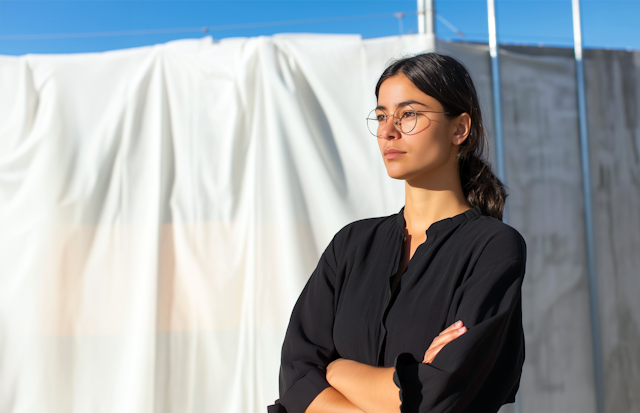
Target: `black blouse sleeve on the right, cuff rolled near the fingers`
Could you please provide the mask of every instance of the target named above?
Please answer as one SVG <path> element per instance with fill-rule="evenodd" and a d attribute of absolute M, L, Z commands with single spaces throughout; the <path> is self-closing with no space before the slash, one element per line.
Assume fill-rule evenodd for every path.
<path fill-rule="evenodd" d="M 518 236 L 513 253 L 504 242 L 484 251 L 456 289 L 448 315 L 468 331 L 447 344 L 430 364 L 412 354 L 396 357 L 394 382 L 403 412 L 496 412 L 512 402 L 524 362 L 521 285 L 525 246 Z M 504 241 L 504 240 L 502 240 Z M 513 246 L 513 245 L 512 245 Z"/>

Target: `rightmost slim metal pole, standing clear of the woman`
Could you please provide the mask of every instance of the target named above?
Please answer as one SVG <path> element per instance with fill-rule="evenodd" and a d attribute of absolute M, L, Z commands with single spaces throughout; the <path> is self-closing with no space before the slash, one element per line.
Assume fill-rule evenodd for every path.
<path fill-rule="evenodd" d="M 580 122 L 580 155 L 582 160 L 582 190 L 584 192 L 584 223 L 587 243 L 587 270 L 589 274 L 589 309 L 591 316 L 591 342 L 593 346 L 593 374 L 596 387 L 596 411 L 604 413 L 604 386 L 602 374 L 602 348 L 600 346 L 600 311 L 598 283 L 596 279 L 593 214 L 591 209 L 591 177 L 589 175 L 589 139 L 587 129 L 587 105 L 582 65 L 582 28 L 580 26 L 580 0 L 572 0 L 573 45 L 576 58 L 576 82 L 578 89 L 578 116 Z"/>

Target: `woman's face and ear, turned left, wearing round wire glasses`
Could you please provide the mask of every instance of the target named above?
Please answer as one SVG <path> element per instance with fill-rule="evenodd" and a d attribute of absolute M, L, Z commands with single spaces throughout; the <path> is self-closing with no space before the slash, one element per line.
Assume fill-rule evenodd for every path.
<path fill-rule="evenodd" d="M 407 102 L 411 102 L 418 121 L 422 122 L 418 125 L 428 127 L 418 127 L 409 133 L 399 132 L 394 127 L 391 115 Z M 378 131 L 378 145 L 390 177 L 421 181 L 455 173 L 458 146 L 469 134 L 469 115 L 465 113 L 449 119 L 444 113 L 418 112 L 443 112 L 444 108 L 435 98 L 418 89 L 404 74 L 390 77 L 380 85 L 378 109 L 389 115 L 386 124 Z M 400 116 L 400 111 L 396 112 L 396 116 Z M 423 116 L 428 119 L 421 119 Z M 468 125 L 465 127 L 467 119 Z"/>

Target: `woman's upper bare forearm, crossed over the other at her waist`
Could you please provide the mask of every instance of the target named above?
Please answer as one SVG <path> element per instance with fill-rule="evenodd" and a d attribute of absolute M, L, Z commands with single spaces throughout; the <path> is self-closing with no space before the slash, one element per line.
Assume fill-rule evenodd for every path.
<path fill-rule="evenodd" d="M 393 373 L 393 367 L 339 359 L 328 367 L 327 381 L 366 413 L 399 412 L 400 393 L 393 382 Z"/>

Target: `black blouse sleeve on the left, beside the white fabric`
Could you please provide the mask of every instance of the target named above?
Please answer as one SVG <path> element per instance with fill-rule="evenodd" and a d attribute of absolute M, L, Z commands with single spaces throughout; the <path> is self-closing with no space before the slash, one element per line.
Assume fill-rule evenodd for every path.
<path fill-rule="evenodd" d="M 282 346 L 280 400 L 288 413 L 302 413 L 325 388 L 327 365 L 337 358 L 334 242 L 327 247 L 291 314 Z M 282 408 L 280 408 L 282 411 Z"/>

